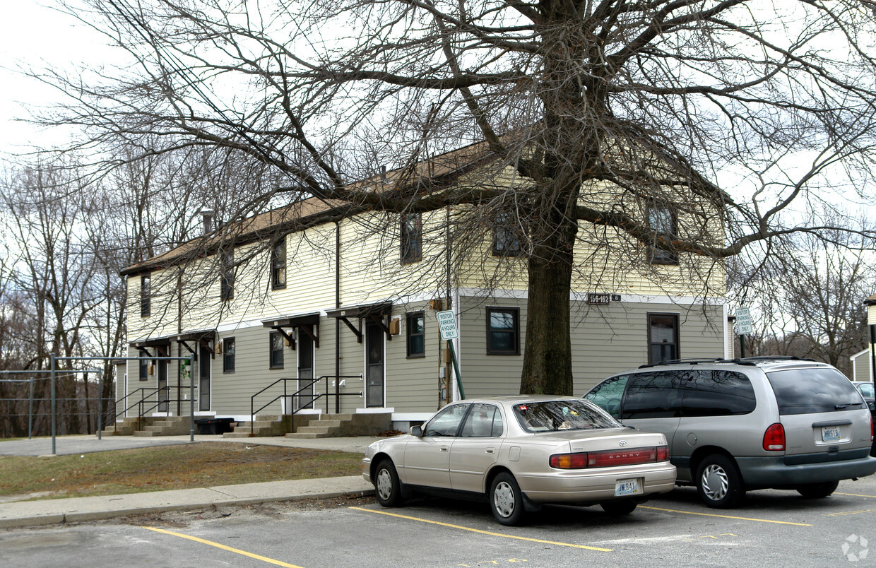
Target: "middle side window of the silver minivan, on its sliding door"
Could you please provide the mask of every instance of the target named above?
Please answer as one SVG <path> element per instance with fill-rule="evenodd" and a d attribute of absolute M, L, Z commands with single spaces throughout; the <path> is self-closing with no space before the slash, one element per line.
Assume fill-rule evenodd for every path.
<path fill-rule="evenodd" d="M 679 371 L 633 374 L 627 382 L 621 419 L 680 416 L 682 374 Z"/>

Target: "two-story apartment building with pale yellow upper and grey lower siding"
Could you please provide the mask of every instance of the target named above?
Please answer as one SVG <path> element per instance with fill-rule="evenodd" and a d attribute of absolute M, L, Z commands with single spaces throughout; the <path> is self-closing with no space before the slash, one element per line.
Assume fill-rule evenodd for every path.
<path fill-rule="evenodd" d="M 389 412 L 406 428 L 460 395 L 435 320 L 448 309 L 464 394 L 519 392 L 527 289 L 514 232 L 495 219 L 480 234 L 477 224 L 464 237 L 451 230 L 449 219 L 471 208 L 397 214 L 387 225 L 381 212 L 329 215 L 336 205 L 304 199 L 126 267 L 130 355 L 140 361 L 119 398 L 168 387 L 156 413 L 187 415 L 187 370 L 152 358 L 194 353 L 196 415 L 249 420 L 283 393 L 276 381 L 308 394 L 324 377 L 313 388 L 332 396 L 280 398 L 263 412 Z M 684 224 L 670 210 L 646 215 L 667 232 Z M 570 298 L 576 394 L 632 366 L 728 355 L 722 266 L 647 247 L 631 265 L 586 231 Z"/>

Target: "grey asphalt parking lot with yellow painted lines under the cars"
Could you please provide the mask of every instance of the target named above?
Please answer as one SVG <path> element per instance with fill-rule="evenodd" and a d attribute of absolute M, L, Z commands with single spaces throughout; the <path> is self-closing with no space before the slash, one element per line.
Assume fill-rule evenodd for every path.
<path fill-rule="evenodd" d="M 632 515 L 545 508 L 521 527 L 463 501 L 278 503 L 8 530 L 0 550 L 16 566 L 861 566 L 876 564 L 874 517 L 871 477 L 826 499 L 752 492 L 731 510 L 682 487 Z"/>

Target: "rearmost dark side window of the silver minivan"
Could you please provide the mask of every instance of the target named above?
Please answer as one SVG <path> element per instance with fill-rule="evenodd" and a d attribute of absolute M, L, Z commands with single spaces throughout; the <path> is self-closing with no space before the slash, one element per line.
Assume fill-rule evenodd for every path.
<path fill-rule="evenodd" d="M 745 374 L 691 371 L 687 375 L 682 416 L 744 415 L 754 411 L 754 387 Z"/>

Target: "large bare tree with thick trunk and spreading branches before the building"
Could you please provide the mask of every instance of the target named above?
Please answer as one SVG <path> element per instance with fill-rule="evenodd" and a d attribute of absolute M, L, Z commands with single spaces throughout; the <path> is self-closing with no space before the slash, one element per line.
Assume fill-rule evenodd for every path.
<path fill-rule="evenodd" d="M 517 227 L 523 393 L 571 392 L 570 283 L 595 270 L 576 243 L 626 245 L 637 270 L 661 251 L 720 261 L 849 230 L 816 204 L 872 203 L 869 0 L 83 1 L 92 12 L 71 13 L 136 61 L 43 75 L 89 144 L 239 153 L 284 177 L 250 210 L 308 195 L 343 202 L 338 218 L 472 205 Z M 477 182 L 414 167 L 465 145 L 466 163 L 434 167 L 476 163 Z M 385 165 L 380 191 L 353 183 Z M 652 206 L 684 222 L 668 231 Z"/>

